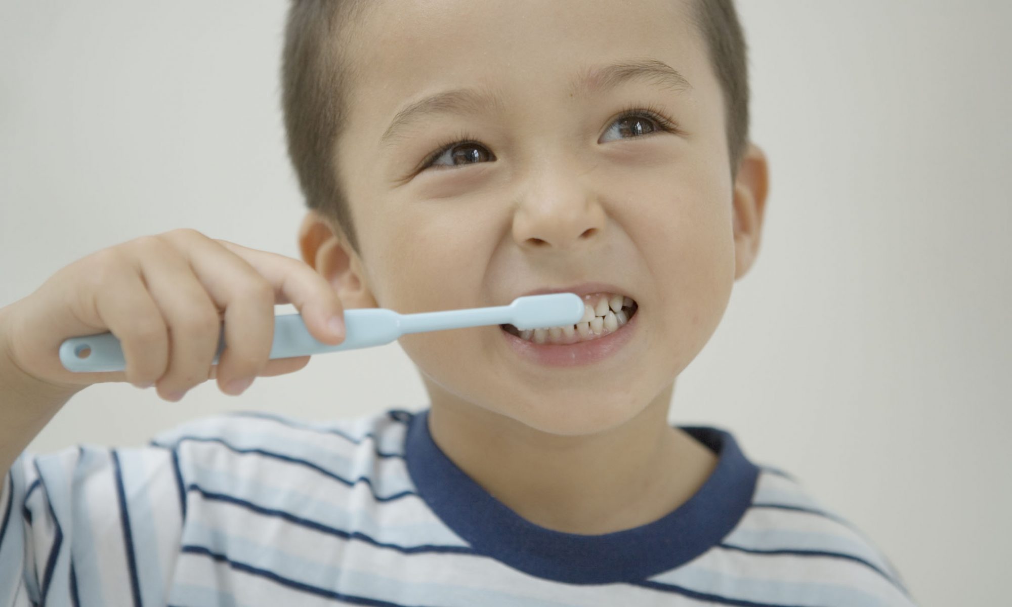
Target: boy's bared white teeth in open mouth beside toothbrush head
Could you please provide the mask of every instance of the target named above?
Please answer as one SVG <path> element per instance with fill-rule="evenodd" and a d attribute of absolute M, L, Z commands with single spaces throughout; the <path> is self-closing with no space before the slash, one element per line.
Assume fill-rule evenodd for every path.
<path fill-rule="evenodd" d="M 510 335 L 535 344 L 567 346 L 592 341 L 618 331 L 636 315 L 639 306 L 620 293 L 591 293 L 583 296 L 583 318 L 575 325 L 518 330 L 500 325 Z"/>

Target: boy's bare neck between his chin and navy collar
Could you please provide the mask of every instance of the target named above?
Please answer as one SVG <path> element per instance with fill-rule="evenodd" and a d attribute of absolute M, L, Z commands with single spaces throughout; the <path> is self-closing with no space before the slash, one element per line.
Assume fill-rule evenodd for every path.
<path fill-rule="evenodd" d="M 439 448 L 519 516 L 556 531 L 597 535 L 653 522 L 687 501 L 716 463 L 668 425 L 673 382 L 619 427 L 560 436 L 425 381 Z"/>

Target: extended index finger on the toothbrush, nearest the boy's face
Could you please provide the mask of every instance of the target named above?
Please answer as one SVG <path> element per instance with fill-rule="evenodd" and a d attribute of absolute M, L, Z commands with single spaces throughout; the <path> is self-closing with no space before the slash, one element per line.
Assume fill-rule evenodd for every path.
<path fill-rule="evenodd" d="M 306 263 L 267 251 L 249 249 L 228 241 L 216 240 L 242 257 L 275 289 L 275 298 L 292 304 L 303 322 L 317 340 L 336 345 L 344 341 L 344 305 L 334 288 Z M 337 319 L 340 327 L 332 330 L 330 322 Z"/>

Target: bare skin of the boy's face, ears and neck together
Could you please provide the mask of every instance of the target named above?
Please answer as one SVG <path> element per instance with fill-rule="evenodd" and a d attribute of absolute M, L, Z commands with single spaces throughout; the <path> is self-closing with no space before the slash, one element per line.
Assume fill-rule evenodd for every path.
<path fill-rule="evenodd" d="M 303 259 L 347 308 L 401 313 L 502 306 L 589 281 L 621 287 L 640 306 L 637 334 L 592 365 L 529 363 L 498 327 L 400 343 L 422 373 L 436 443 L 520 516 L 581 534 L 663 517 L 715 463 L 668 425 L 668 407 L 755 260 L 768 188 L 765 155 L 751 144 L 732 181 L 722 92 L 686 4 L 641 0 L 617 13 L 613 0 L 384 7 L 354 29 L 362 70 L 336 144 L 360 251 L 310 212 Z M 571 95 L 581 67 L 630 58 L 667 63 L 691 90 L 631 81 Z M 407 103 L 474 85 L 498 87 L 505 110 L 429 116 L 381 145 Z M 616 126 L 626 106 L 648 104 L 680 132 Z M 415 170 L 460 127 L 487 156 Z"/>

